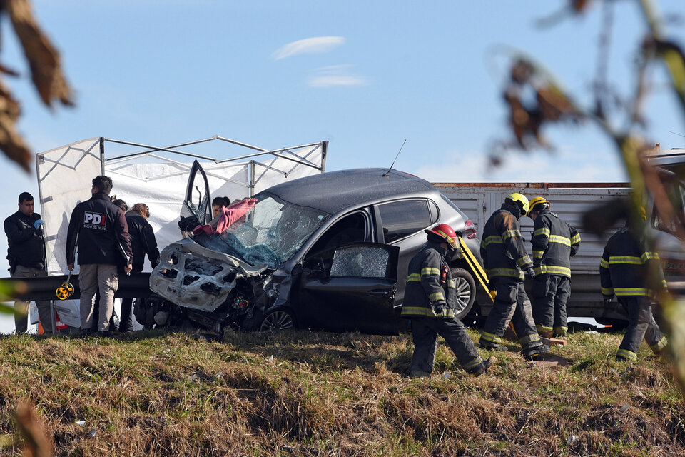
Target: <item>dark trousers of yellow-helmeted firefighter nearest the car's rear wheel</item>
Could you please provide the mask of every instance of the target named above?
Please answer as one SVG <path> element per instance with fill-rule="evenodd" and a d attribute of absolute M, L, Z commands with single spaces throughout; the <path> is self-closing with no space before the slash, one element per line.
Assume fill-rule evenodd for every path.
<path fill-rule="evenodd" d="M 499 346 L 511 321 L 522 348 L 542 346 L 523 281 L 505 276 L 493 278 L 492 281 L 497 296 L 480 334 L 480 343 L 484 346 Z"/>

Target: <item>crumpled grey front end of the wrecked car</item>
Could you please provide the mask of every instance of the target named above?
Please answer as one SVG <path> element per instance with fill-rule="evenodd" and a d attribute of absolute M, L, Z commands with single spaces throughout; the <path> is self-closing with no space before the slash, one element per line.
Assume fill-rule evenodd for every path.
<path fill-rule="evenodd" d="M 236 280 L 260 276 L 267 269 L 186 238 L 163 249 L 160 263 L 150 275 L 150 289 L 179 306 L 214 311 L 226 301 Z"/>

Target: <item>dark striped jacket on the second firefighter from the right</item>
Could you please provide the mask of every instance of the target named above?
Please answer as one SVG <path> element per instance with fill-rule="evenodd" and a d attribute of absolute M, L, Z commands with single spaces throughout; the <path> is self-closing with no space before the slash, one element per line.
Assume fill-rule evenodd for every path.
<path fill-rule="evenodd" d="M 533 224 L 533 265 L 536 275 L 571 277 L 571 258 L 580 247 L 576 229 L 549 209 L 540 211 Z"/>

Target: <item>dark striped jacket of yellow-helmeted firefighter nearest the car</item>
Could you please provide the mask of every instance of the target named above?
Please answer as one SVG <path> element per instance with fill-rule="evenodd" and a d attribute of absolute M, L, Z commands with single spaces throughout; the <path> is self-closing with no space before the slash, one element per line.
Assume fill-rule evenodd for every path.
<path fill-rule="evenodd" d="M 519 221 L 507 204 L 494 211 L 485 223 L 480 256 L 487 276 L 507 276 L 523 280 L 523 270 L 533 266 L 519 227 Z"/>

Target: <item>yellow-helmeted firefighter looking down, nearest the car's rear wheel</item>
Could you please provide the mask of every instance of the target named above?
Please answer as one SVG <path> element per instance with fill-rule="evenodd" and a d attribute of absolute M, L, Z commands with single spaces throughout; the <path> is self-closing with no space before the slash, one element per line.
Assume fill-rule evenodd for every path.
<path fill-rule="evenodd" d="M 485 321 L 480 346 L 494 351 L 507 351 L 499 346 L 509 321 L 514 326 L 522 355 L 528 360 L 549 352 L 549 346 L 540 341 L 533 321 L 530 301 L 524 289 L 524 272 L 535 277 L 533 263 L 526 253 L 519 218 L 527 214 L 528 199 L 518 192 L 504 199 L 502 207 L 494 211 L 485 223 L 480 255 L 494 290 L 494 305 Z"/>

